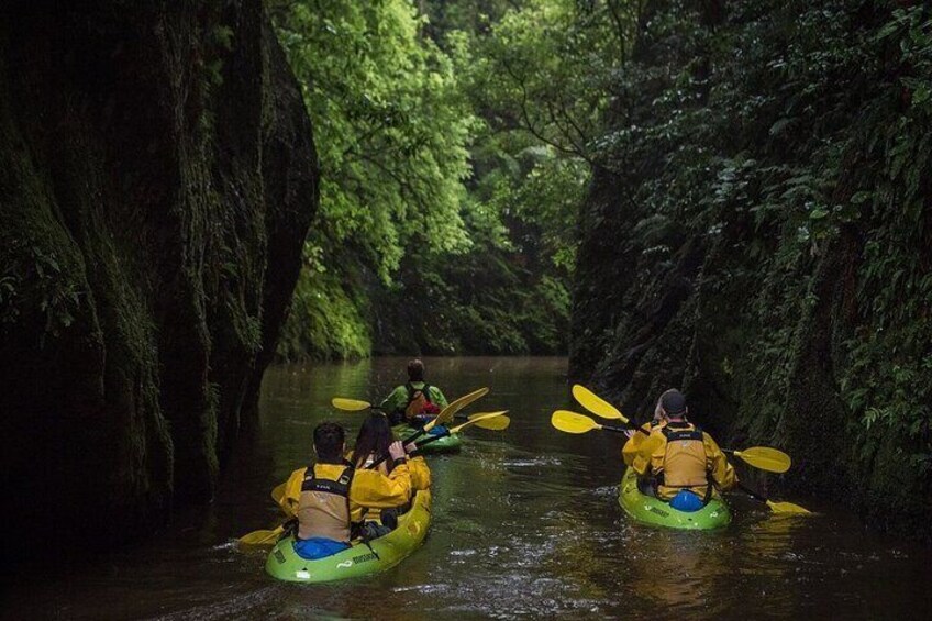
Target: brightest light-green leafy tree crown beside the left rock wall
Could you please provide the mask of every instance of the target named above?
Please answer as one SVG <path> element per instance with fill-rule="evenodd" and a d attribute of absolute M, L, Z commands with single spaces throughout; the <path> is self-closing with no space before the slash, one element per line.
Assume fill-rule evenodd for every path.
<path fill-rule="evenodd" d="M 350 247 L 390 282 L 410 244 L 468 247 L 459 207 L 475 120 L 411 3 L 306 0 L 273 15 L 321 159 L 311 252 Z"/>

